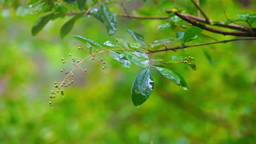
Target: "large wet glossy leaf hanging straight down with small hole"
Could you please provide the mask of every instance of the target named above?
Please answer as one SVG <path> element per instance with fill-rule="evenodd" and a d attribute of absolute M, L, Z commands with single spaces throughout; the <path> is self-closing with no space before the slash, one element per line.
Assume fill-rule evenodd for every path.
<path fill-rule="evenodd" d="M 142 70 L 132 84 L 132 102 L 139 106 L 146 102 L 154 89 L 154 80 L 148 68 Z"/>

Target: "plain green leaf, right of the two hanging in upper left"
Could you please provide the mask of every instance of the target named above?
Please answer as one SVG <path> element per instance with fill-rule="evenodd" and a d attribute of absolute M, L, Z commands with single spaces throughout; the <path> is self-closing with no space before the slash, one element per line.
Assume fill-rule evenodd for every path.
<path fill-rule="evenodd" d="M 64 38 L 64 36 L 66 36 L 72 30 L 76 20 L 82 18 L 83 15 L 84 14 L 78 14 L 66 22 L 60 29 L 60 37 Z"/>

